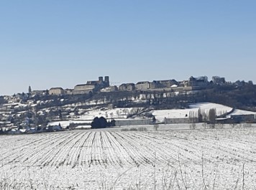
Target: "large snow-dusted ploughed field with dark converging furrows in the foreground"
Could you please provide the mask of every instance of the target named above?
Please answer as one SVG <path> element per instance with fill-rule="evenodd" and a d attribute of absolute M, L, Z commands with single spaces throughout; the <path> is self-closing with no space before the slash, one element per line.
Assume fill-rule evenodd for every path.
<path fill-rule="evenodd" d="M 256 189 L 256 128 L 76 130 L 0 143 L 1 189 Z"/>

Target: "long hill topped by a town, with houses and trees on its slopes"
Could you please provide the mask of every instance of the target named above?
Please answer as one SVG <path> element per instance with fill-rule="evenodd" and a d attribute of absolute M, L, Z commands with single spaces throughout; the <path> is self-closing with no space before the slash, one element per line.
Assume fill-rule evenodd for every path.
<path fill-rule="evenodd" d="M 134 120 L 129 121 L 129 124 L 150 124 L 154 116 L 150 115 L 152 110 L 186 109 L 195 103 L 217 103 L 229 106 L 233 111 L 234 108 L 255 111 L 255 93 L 256 88 L 252 81 L 227 82 L 224 77 L 217 76 L 212 77 L 211 81 L 204 76 L 189 77 L 188 80 L 183 81 L 153 80 L 136 84 L 123 83 L 118 87 L 111 85 L 110 77 L 105 76 L 99 77 L 99 80 L 78 84 L 72 89 L 51 87 L 50 90 L 32 90 L 29 86 L 26 93 L 0 97 L 0 128 L 11 130 L 9 133 L 12 133 L 12 130 L 15 133 L 17 130 L 21 131 L 20 133 L 28 130 L 30 133 L 37 130 L 62 130 L 61 123 L 54 126 L 50 123 L 79 118 L 79 125 L 90 125 L 93 118 L 81 120 L 81 117 L 96 109 L 106 113 L 104 117 L 107 119 L 147 118 L 140 122 L 136 120 L 137 123 L 134 123 Z M 116 118 L 113 113 L 107 114 L 107 109 L 117 108 L 119 113 L 116 111 Z M 182 118 L 175 122 L 191 123 L 191 118 L 197 118 L 193 119 L 195 123 L 209 122 L 206 118 L 198 120 L 198 114 L 186 115 L 186 119 Z M 173 122 L 168 120 L 169 117 L 170 115 L 166 116 L 165 122 Z M 232 122 L 254 122 L 254 119 L 254 115 L 247 114 L 246 119 L 239 118 Z M 128 125 L 127 121 L 120 122 L 119 125 Z M 77 127 L 78 123 L 70 123 L 69 127 Z"/>

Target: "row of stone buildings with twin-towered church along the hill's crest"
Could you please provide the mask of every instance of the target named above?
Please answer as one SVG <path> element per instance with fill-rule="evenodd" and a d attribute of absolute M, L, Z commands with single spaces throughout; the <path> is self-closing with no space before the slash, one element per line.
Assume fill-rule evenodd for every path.
<path fill-rule="evenodd" d="M 212 77 L 211 82 L 214 84 L 224 84 L 224 77 Z M 32 95 L 81 95 L 93 92 L 115 92 L 115 91 L 133 91 L 133 90 L 198 90 L 198 88 L 209 85 L 208 77 L 189 77 L 188 80 L 178 82 L 176 80 L 153 80 L 141 81 L 135 83 L 123 83 L 122 85 L 111 86 L 109 76 L 99 77 L 99 80 L 88 81 L 85 84 L 76 85 L 73 89 L 63 89 L 62 87 L 52 87 L 50 90 L 31 90 Z"/>

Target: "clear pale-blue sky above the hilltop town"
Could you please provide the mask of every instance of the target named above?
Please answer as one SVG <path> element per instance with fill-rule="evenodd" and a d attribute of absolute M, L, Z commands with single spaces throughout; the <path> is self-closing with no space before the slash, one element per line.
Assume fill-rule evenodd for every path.
<path fill-rule="evenodd" d="M 0 1 L 0 95 L 214 75 L 256 82 L 256 1 Z"/>

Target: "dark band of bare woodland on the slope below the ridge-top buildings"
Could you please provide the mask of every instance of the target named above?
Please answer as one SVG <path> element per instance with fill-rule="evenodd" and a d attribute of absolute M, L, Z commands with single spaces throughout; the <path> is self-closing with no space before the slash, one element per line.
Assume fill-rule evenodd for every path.
<path fill-rule="evenodd" d="M 191 103 L 210 102 L 256 111 L 256 86 L 212 85 L 204 90 L 189 92 L 99 92 L 91 99 L 97 100 L 99 104 L 111 103 L 117 108 L 138 106 L 155 109 L 188 108 Z"/>

